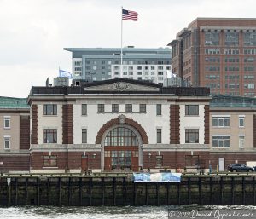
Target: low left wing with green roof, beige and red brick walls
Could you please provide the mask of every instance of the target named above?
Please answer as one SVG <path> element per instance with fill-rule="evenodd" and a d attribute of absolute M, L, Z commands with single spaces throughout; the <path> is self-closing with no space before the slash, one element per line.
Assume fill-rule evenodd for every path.
<path fill-rule="evenodd" d="M 29 113 L 26 98 L 0 97 L 0 172 L 29 170 Z"/>

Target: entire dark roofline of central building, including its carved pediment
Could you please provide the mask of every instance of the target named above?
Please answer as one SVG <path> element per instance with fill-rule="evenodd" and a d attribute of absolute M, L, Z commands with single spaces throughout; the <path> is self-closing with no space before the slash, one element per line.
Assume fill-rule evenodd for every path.
<path fill-rule="evenodd" d="M 209 88 L 172 87 L 128 78 L 114 78 L 70 87 L 32 87 L 30 96 L 38 95 L 210 95 Z"/>

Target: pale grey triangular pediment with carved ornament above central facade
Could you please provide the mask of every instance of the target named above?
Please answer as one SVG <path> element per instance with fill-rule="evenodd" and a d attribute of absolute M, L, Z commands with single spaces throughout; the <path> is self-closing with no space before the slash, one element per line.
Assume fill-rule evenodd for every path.
<path fill-rule="evenodd" d="M 95 91 L 159 91 L 159 87 L 153 85 L 146 85 L 146 84 L 136 84 L 130 82 L 113 82 L 109 84 L 97 84 L 95 86 L 85 87 L 84 91 L 86 90 L 95 90 Z"/>

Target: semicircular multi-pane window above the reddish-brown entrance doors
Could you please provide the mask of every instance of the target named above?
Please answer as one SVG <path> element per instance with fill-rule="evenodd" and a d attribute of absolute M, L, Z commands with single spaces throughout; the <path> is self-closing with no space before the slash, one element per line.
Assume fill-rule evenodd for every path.
<path fill-rule="evenodd" d="M 105 138 L 105 146 L 138 146 L 137 135 L 128 128 L 114 128 Z"/>

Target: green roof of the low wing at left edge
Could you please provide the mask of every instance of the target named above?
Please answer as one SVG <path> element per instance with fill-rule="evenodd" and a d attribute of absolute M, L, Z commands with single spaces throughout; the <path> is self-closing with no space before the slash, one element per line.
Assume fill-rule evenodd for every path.
<path fill-rule="evenodd" d="M 0 96 L 0 109 L 29 109 L 27 98 Z"/>

